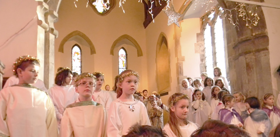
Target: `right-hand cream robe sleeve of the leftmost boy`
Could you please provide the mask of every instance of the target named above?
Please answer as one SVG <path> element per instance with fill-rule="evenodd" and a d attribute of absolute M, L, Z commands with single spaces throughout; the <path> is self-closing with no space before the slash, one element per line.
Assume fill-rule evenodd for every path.
<path fill-rule="evenodd" d="M 55 116 L 55 108 L 53 106 L 53 101 L 48 96 L 47 102 L 46 102 L 47 108 L 47 117 L 46 117 L 46 125 L 48 130 L 48 135 L 52 137 L 58 136 L 58 129 L 57 129 L 57 120 Z"/>

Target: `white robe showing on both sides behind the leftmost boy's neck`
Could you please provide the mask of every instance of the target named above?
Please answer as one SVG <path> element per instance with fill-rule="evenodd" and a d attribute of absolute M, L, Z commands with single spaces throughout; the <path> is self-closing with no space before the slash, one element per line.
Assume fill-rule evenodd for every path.
<path fill-rule="evenodd" d="M 16 85 L 19 83 L 19 79 L 18 77 L 16 76 L 11 76 L 7 79 L 5 85 L 3 86 L 3 88 L 6 88 L 8 86 L 13 86 L 13 85 Z M 33 86 L 37 87 L 37 88 L 40 88 L 41 90 L 44 90 L 45 92 L 48 93 L 48 90 L 45 86 L 45 83 L 41 80 L 41 79 L 38 79 L 36 81 L 36 83 L 32 84 Z"/>

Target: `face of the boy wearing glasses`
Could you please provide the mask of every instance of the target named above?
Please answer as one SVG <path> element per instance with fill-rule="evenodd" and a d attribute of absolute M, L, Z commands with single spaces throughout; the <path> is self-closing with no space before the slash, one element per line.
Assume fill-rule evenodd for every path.
<path fill-rule="evenodd" d="M 78 86 L 75 88 L 79 96 L 91 97 L 95 90 L 95 83 L 93 78 L 83 78 L 80 80 Z"/>

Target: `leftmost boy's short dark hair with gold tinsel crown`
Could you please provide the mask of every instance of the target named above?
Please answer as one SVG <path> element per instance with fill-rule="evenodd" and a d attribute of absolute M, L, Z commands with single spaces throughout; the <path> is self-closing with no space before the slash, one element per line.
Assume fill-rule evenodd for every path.
<path fill-rule="evenodd" d="M 32 57 L 30 55 L 27 56 L 20 56 L 17 58 L 13 64 L 13 72 L 16 77 L 18 77 L 17 69 L 20 68 L 25 70 L 30 64 L 40 66 L 40 61 L 36 57 Z"/>

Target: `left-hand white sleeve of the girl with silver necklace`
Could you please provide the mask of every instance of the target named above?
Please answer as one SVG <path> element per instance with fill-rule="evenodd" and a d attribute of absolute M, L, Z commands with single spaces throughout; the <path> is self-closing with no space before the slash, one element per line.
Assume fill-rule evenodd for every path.
<path fill-rule="evenodd" d="M 147 113 L 147 112 L 146 112 Z M 149 120 L 150 121 L 150 120 Z M 112 103 L 108 113 L 107 136 L 121 137 L 122 123 L 118 115 L 118 104 Z"/>

